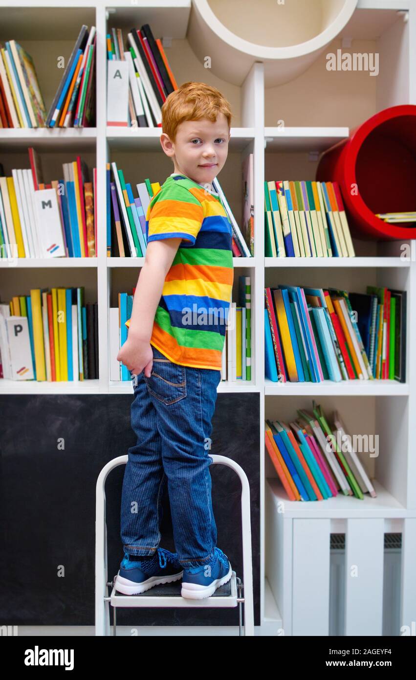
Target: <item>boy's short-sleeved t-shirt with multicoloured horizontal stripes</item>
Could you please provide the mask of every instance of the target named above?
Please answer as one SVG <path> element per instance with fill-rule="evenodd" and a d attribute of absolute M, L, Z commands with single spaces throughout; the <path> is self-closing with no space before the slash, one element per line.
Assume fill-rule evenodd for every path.
<path fill-rule="evenodd" d="M 146 239 L 179 236 L 150 344 L 175 364 L 219 371 L 234 280 L 231 224 L 218 194 L 173 173 L 150 201 Z"/>

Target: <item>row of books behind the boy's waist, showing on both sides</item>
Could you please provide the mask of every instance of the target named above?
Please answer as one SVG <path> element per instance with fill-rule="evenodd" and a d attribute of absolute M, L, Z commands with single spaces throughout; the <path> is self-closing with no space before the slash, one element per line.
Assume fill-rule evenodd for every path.
<path fill-rule="evenodd" d="M 109 310 L 109 352 L 110 380 L 131 380 L 130 371 L 116 359 L 120 347 L 124 345 L 128 328 L 126 321 L 131 318 L 135 294 L 118 294 L 118 307 Z M 252 379 L 252 316 L 251 316 L 251 279 L 239 277 L 239 301 L 231 302 L 224 329 L 224 348 L 222 351 L 221 379 L 228 381 Z M 220 320 L 221 321 L 221 320 Z"/>

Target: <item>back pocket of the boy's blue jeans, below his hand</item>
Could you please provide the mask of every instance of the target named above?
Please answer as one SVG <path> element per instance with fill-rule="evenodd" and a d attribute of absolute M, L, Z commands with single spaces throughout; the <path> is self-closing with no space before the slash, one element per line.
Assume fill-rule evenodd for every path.
<path fill-rule="evenodd" d="M 154 356 L 150 378 L 144 375 L 148 392 L 162 403 L 175 404 L 186 397 L 186 369 L 167 358 Z"/>

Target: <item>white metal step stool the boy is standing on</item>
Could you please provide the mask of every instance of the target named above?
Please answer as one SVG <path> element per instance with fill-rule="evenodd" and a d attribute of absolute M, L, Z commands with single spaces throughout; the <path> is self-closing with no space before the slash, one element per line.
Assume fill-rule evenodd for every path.
<path fill-rule="evenodd" d="M 237 607 L 239 605 L 239 635 L 254 636 L 254 606 L 253 606 L 253 572 L 252 572 L 252 529 L 250 524 L 250 488 L 247 475 L 243 468 L 231 458 L 209 454 L 213 464 L 222 464 L 232 468 L 241 481 L 241 528 L 243 539 L 243 583 L 232 571 L 228 583 L 215 590 L 213 595 L 204 600 L 190 600 L 183 598 L 181 581 L 156 585 L 151 590 L 139 595 L 124 595 L 116 591 L 116 577 L 108 581 L 107 575 L 107 523 L 105 521 L 105 480 L 111 470 L 118 465 L 126 464 L 128 456 L 119 456 L 109 460 L 101 470 L 97 479 L 95 505 L 95 634 L 109 636 L 110 619 L 109 605 L 114 607 L 113 634 L 116 635 L 117 607 Z M 111 595 L 108 587 L 111 586 Z M 238 590 L 238 595 L 237 595 Z M 241 605 L 244 604 L 244 626 L 242 626 Z"/>

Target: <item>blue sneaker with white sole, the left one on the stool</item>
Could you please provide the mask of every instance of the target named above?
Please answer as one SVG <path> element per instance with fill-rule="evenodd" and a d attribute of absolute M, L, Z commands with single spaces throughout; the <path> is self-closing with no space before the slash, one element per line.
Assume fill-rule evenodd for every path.
<path fill-rule="evenodd" d="M 179 581 L 184 573 L 176 553 L 158 548 L 152 560 L 131 562 L 128 553 L 120 564 L 116 577 L 116 590 L 124 595 L 139 595 L 160 583 Z"/>

